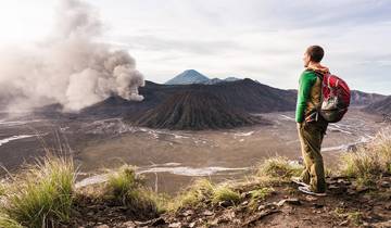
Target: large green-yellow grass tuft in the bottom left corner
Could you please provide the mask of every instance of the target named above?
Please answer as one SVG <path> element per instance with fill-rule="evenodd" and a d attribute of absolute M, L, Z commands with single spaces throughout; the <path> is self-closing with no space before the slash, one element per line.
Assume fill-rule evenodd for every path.
<path fill-rule="evenodd" d="M 68 221 L 74 182 L 72 159 L 47 156 L 28 166 L 8 185 L 2 221 L 37 228 Z"/>

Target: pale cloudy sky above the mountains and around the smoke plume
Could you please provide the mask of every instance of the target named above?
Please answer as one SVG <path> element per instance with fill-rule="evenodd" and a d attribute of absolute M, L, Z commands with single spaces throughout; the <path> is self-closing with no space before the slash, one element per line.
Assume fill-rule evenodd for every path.
<path fill-rule="evenodd" d="M 104 24 L 97 41 L 126 49 L 147 80 L 185 69 L 294 89 L 306 47 L 351 89 L 391 94 L 389 0 L 86 0 Z M 55 0 L 0 0 L 0 47 L 39 43 Z"/>

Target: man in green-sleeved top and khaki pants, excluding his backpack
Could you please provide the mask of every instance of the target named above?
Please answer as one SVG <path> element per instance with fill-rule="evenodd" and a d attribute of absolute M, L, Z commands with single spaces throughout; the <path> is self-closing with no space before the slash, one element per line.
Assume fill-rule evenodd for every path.
<path fill-rule="evenodd" d="M 301 187 L 299 190 L 308 194 L 325 195 L 326 180 L 320 147 L 328 123 L 319 115 L 321 103 L 323 75 L 329 69 L 320 65 L 324 49 L 311 46 L 304 53 L 305 71 L 299 80 L 295 121 L 301 143 L 305 169 L 292 180 Z"/>

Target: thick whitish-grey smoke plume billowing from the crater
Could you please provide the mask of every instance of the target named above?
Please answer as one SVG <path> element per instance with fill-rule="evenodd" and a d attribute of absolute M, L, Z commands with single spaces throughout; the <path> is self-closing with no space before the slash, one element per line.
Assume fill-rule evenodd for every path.
<path fill-rule="evenodd" d="M 135 60 L 124 50 L 97 42 L 98 13 L 80 0 L 61 0 L 53 34 L 28 50 L 2 50 L 0 93 L 20 94 L 12 106 L 61 103 L 75 112 L 116 93 L 141 101 L 144 85 Z M 0 94 L 1 96 L 1 94 Z"/>

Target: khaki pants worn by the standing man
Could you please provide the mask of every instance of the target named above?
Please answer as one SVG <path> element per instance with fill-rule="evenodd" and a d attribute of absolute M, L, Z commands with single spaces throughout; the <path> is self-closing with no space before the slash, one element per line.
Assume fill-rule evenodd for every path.
<path fill-rule="evenodd" d="M 328 123 L 323 118 L 319 118 L 317 122 L 303 122 L 298 125 L 301 151 L 305 164 L 301 178 L 311 186 L 311 190 L 314 192 L 326 191 L 325 168 L 320 147 Z"/>

